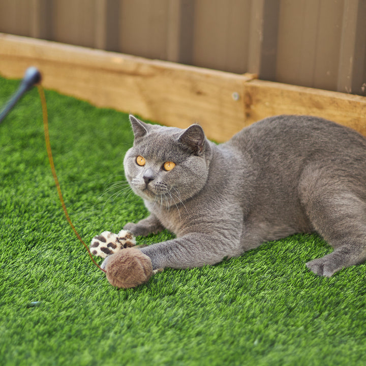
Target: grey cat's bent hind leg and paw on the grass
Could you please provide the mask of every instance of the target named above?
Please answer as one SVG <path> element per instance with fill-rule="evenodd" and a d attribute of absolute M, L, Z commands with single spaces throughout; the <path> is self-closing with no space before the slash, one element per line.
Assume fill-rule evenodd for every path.
<path fill-rule="evenodd" d="M 357 180 L 318 169 L 303 175 L 300 199 L 315 229 L 334 251 L 307 263 L 314 273 L 330 277 L 366 260 L 366 199 Z"/>

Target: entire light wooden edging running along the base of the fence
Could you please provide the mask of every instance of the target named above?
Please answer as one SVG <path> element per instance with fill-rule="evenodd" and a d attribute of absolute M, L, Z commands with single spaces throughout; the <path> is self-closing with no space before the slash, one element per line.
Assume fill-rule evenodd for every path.
<path fill-rule="evenodd" d="M 282 113 L 318 115 L 366 135 L 366 97 L 0 34 L 0 74 L 21 78 L 31 65 L 46 88 L 167 126 L 198 122 L 217 141 Z"/>

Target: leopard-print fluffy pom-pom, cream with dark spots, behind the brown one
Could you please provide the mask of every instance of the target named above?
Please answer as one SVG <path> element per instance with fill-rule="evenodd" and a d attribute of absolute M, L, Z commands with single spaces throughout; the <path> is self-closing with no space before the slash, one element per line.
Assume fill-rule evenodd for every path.
<path fill-rule="evenodd" d="M 103 231 L 95 236 L 90 244 L 90 253 L 95 256 L 106 258 L 121 249 L 133 247 L 136 240 L 133 234 L 128 230 L 121 230 L 118 234 L 110 231 Z"/>

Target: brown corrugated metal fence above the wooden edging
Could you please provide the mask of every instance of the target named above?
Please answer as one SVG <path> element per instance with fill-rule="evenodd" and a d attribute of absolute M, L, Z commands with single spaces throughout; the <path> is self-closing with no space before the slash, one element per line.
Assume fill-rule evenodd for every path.
<path fill-rule="evenodd" d="M 366 95 L 366 0 L 0 0 L 0 32 Z"/>

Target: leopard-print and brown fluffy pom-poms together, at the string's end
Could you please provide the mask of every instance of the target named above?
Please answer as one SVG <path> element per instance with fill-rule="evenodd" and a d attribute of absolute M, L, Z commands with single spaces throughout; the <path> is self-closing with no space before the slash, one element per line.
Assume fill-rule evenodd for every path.
<path fill-rule="evenodd" d="M 118 234 L 104 231 L 95 236 L 90 244 L 90 253 L 105 258 L 101 268 L 109 283 L 119 288 L 131 288 L 147 282 L 153 274 L 150 258 L 133 248 L 136 240 L 128 230 Z"/>

